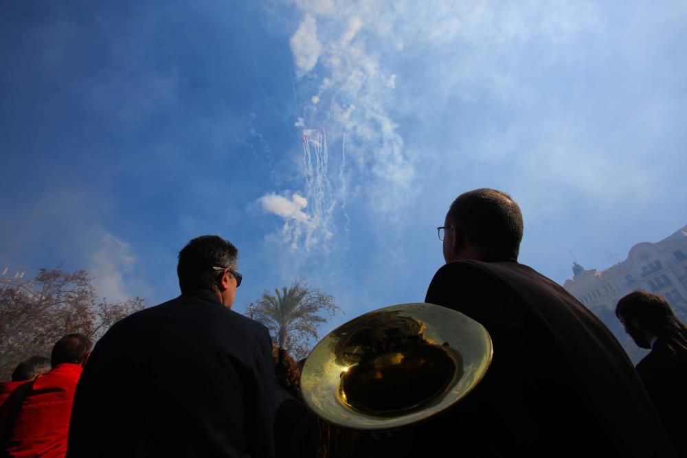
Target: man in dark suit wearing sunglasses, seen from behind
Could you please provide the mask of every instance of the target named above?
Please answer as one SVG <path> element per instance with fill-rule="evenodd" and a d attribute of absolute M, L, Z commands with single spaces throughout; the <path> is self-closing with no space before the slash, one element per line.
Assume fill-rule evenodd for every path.
<path fill-rule="evenodd" d="M 217 236 L 179 253 L 181 296 L 100 339 L 74 399 L 67 456 L 273 457 L 267 328 L 233 312 L 241 275 Z"/>

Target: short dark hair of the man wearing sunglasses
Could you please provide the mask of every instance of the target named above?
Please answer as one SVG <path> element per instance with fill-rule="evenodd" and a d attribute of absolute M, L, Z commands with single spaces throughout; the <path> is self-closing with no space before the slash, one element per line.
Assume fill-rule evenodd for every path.
<path fill-rule="evenodd" d="M 218 236 L 194 238 L 179 251 L 179 288 L 181 293 L 209 288 L 217 289 L 218 272 L 213 267 L 236 267 L 238 250 L 232 242 Z"/>

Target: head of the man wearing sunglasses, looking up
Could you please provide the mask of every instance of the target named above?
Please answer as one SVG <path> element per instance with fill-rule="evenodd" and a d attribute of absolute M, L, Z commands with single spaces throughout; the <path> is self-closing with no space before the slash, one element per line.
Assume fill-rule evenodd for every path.
<path fill-rule="evenodd" d="M 236 272 L 238 250 L 218 236 L 194 238 L 179 251 L 179 288 L 181 294 L 193 290 L 213 290 L 225 307 L 234 304 L 240 274 Z"/>

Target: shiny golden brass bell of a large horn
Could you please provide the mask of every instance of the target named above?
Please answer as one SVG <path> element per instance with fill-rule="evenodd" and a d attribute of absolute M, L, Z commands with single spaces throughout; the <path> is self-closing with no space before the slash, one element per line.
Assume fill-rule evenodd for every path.
<path fill-rule="evenodd" d="M 466 396 L 492 354 L 477 321 L 433 304 L 400 304 L 352 319 L 319 341 L 303 367 L 301 392 L 327 422 L 401 428 Z"/>

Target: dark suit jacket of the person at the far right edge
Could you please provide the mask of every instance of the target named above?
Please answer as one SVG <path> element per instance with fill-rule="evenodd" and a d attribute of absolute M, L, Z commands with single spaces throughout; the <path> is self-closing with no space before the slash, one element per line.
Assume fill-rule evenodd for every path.
<path fill-rule="evenodd" d="M 687 457 L 687 353 L 673 352 L 661 339 L 637 365 L 646 391 L 673 445 Z"/>

